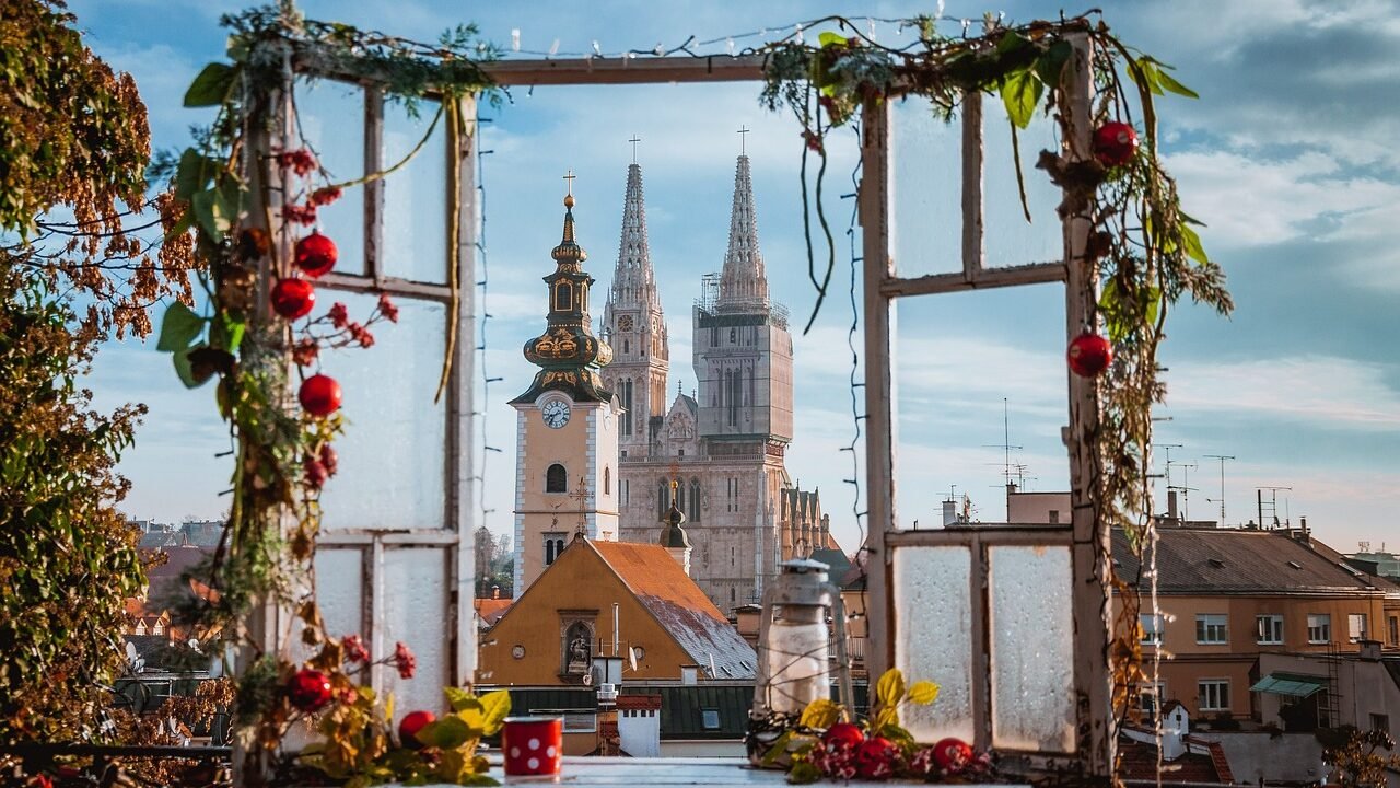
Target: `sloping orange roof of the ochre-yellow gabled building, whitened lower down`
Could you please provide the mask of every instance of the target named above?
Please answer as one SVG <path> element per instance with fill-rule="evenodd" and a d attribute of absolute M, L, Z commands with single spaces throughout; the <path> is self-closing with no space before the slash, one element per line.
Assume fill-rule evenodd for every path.
<path fill-rule="evenodd" d="M 627 589 L 676 644 L 713 679 L 752 679 L 757 655 L 710 602 L 680 564 L 659 544 L 594 541 L 598 552 Z"/>

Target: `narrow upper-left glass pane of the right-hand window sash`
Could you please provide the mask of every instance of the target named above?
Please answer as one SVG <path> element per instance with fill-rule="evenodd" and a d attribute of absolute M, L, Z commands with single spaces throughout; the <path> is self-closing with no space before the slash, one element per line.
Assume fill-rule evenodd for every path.
<path fill-rule="evenodd" d="M 900 276 L 962 271 L 962 121 L 909 98 L 890 112 L 890 245 Z"/>

